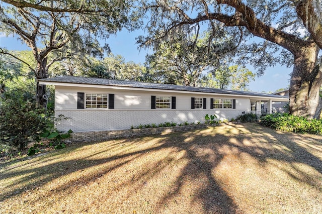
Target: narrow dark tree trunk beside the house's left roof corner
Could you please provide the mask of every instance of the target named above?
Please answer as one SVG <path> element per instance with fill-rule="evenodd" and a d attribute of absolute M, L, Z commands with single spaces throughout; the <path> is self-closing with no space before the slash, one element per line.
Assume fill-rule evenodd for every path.
<path fill-rule="evenodd" d="M 47 78 L 47 57 L 43 58 L 42 60 L 37 60 L 37 76 L 36 79 L 43 79 Z M 46 85 L 41 85 L 37 81 L 37 91 L 36 91 L 36 103 L 37 106 L 46 108 L 46 99 L 44 98 L 44 95 L 46 94 Z"/>

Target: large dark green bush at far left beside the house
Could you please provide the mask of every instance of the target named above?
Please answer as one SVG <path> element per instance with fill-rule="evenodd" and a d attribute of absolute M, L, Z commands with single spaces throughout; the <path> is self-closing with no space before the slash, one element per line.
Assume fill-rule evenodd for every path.
<path fill-rule="evenodd" d="M 0 140 L 3 144 L 22 150 L 47 123 L 44 110 L 36 108 L 34 94 L 21 88 L 2 93 Z"/>

